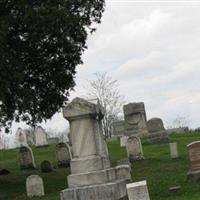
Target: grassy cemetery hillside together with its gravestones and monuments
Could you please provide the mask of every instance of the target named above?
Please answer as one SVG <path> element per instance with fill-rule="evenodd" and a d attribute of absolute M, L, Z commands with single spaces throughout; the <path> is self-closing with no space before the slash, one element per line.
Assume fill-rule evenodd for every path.
<path fill-rule="evenodd" d="M 17 149 L 0 151 L 1 169 L 10 172 L 0 175 L 0 199 L 197 199 L 200 133 L 166 135 L 161 119 L 150 120 L 150 126 L 143 117 L 143 104 L 139 104 L 143 105 L 141 115 L 132 114 L 137 105 L 128 104 L 125 126 L 114 123 L 120 136 L 106 142 L 101 132 L 101 105 L 75 98 L 63 109 L 71 123 L 71 147 L 48 144 L 45 134 L 41 137 L 45 145 L 38 147 L 37 131 L 35 146 L 21 144 Z M 16 134 L 21 138 L 19 130 Z M 159 140 L 149 142 L 155 138 L 150 134 Z M 126 137 L 123 145 L 121 137 Z"/>

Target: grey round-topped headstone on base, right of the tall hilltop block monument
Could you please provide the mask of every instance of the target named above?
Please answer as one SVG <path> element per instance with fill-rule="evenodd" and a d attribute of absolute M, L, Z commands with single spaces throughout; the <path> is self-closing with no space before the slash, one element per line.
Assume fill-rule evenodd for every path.
<path fill-rule="evenodd" d="M 152 118 L 147 121 L 149 136 L 147 141 L 152 144 L 168 143 L 169 138 L 160 118 Z"/>

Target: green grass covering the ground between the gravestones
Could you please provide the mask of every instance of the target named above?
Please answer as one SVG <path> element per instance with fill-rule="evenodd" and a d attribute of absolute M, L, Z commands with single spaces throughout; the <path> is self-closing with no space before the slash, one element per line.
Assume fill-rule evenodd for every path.
<path fill-rule="evenodd" d="M 199 200 L 200 182 L 187 180 L 189 169 L 187 144 L 200 140 L 200 134 L 173 134 L 171 142 L 178 143 L 180 158 L 172 160 L 169 153 L 169 145 L 143 144 L 144 161 L 132 163 L 133 181 L 146 179 L 152 200 Z M 126 149 L 119 146 L 119 141 L 108 143 L 110 159 L 113 164 L 125 158 Z M 68 168 L 57 168 L 55 160 L 55 146 L 33 148 L 36 165 L 41 161 L 50 160 L 55 169 L 51 173 L 41 173 L 36 170 L 20 170 L 17 164 L 17 150 L 0 151 L 0 168 L 11 171 L 9 175 L 0 176 L 0 200 L 25 200 L 25 180 L 29 175 L 38 174 L 43 178 L 46 195 L 33 200 L 58 200 L 59 192 L 67 188 Z M 181 190 L 175 194 L 169 192 L 169 187 L 181 186 Z"/>

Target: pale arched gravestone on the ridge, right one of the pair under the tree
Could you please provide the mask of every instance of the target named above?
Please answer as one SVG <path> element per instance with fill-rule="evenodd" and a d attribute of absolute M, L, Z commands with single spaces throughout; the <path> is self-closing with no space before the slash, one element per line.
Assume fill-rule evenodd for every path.
<path fill-rule="evenodd" d="M 48 145 L 47 134 L 42 127 L 37 126 L 35 128 L 34 135 L 35 135 L 35 145 L 37 147 L 42 147 L 42 146 Z"/>

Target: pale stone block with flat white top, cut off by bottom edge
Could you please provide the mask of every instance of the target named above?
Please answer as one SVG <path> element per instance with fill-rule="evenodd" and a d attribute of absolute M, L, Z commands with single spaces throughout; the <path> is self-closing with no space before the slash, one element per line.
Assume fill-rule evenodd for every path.
<path fill-rule="evenodd" d="M 150 200 L 146 181 L 126 185 L 129 200 Z"/>

